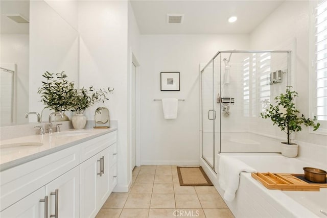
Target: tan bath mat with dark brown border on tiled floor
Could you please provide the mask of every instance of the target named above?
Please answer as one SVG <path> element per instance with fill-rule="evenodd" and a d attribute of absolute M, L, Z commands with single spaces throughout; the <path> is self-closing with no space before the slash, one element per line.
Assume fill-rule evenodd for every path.
<path fill-rule="evenodd" d="M 201 166 L 181 167 L 177 166 L 179 184 L 181 186 L 212 186 L 213 183 L 204 173 Z"/>

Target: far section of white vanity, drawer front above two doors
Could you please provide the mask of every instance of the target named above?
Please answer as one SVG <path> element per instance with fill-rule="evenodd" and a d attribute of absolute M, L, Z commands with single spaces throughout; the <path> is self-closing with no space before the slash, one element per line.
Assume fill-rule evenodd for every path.
<path fill-rule="evenodd" d="M 94 141 L 81 144 L 81 160 L 85 161 L 80 164 L 80 217 L 95 217 L 114 188 L 111 178 L 116 175 L 110 169 L 116 154 L 113 157 L 110 151 L 116 151 L 115 141 L 116 132 L 112 132 L 97 138 L 97 146 Z"/>

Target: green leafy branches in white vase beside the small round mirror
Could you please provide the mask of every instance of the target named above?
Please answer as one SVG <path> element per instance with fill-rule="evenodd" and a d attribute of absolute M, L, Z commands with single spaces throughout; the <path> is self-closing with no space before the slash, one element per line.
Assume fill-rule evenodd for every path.
<path fill-rule="evenodd" d="M 90 86 L 88 89 L 84 87 L 81 89 L 74 89 L 74 97 L 71 101 L 71 110 L 75 112 L 72 117 L 73 127 L 75 129 L 83 129 L 86 125 L 86 116 L 84 111 L 99 102 L 104 103 L 107 98 L 107 94 L 111 93 L 113 89 L 109 87 L 107 89 L 95 89 Z"/>

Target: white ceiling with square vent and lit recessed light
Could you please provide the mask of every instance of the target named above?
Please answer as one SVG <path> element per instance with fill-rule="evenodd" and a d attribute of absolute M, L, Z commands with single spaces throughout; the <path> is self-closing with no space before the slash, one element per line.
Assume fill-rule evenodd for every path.
<path fill-rule="evenodd" d="M 141 34 L 247 34 L 284 1 L 143 1 L 131 0 Z M 168 24 L 167 14 L 184 14 Z M 230 16 L 237 16 L 229 23 Z"/>

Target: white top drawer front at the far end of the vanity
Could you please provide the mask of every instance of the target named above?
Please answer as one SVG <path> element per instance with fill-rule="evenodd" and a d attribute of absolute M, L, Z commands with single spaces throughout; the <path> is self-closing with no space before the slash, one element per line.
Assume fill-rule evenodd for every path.
<path fill-rule="evenodd" d="M 81 143 L 81 162 L 98 154 L 117 140 L 116 131 Z"/>

